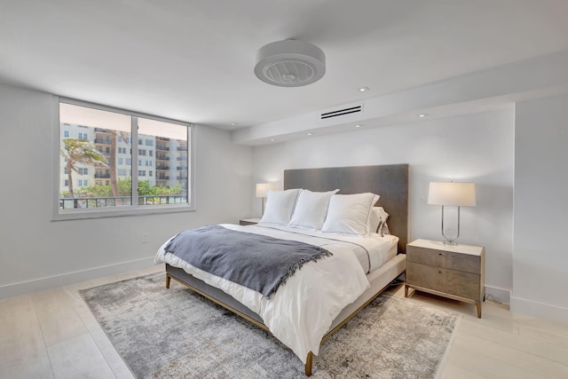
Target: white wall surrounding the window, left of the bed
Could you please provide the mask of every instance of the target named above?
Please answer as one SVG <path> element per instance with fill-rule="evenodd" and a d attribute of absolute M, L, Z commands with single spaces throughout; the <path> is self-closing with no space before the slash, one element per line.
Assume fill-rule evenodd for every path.
<path fill-rule="evenodd" d="M 0 298 L 152 265 L 172 234 L 250 216 L 251 148 L 198 126 L 195 212 L 51 221 L 52 105 L 49 94 L 0 84 Z"/>

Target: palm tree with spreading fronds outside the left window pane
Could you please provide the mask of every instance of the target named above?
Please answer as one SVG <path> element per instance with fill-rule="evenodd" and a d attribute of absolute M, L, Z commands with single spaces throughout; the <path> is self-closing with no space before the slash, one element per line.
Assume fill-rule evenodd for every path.
<path fill-rule="evenodd" d="M 77 164 L 106 166 L 105 157 L 97 151 L 91 141 L 86 139 L 63 138 L 63 148 L 59 154 L 65 158 L 69 182 L 69 197 L 73 194 L 72 171 L 78 172 Z"/>

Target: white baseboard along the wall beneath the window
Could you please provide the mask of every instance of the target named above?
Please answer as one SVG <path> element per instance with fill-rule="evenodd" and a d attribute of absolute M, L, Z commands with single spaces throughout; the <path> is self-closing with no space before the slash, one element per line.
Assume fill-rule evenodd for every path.
<path fill-rule="evenodd" d="M 75 284 L 85 280 L 104 278 L 105 276 L 115 275 L 117 273 L 140 270 L 152 265 L 154 265 L 154 256 L 130 262 L 122 262 L 116 265 L 106 265 L 88 270 L 66 272 L 46 278 L 6 284 L 4 286 L 0 286 L 0 300 L 28 295 L 45 289 L 68 286 L 69 284 Z"/>

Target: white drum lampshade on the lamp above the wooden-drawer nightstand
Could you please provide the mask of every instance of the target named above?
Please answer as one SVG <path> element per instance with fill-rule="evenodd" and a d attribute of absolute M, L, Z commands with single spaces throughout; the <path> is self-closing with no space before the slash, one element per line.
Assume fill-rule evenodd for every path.
<path fill-rule="evenodd" d="M 432 205 L 454 205 L 475 207 L 475 183 L 430 182 L 428 203 Z"/>

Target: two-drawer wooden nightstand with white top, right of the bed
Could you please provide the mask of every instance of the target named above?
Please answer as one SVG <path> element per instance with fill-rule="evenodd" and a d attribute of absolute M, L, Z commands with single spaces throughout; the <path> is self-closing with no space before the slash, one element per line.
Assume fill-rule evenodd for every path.
<path fill-rule="evenodd" d="M 428 240 L 410 242 L 406 245 L 405 297 L 408 288 L 476 304 L 477 317 L 481 319 L 485 249 Z"/>

